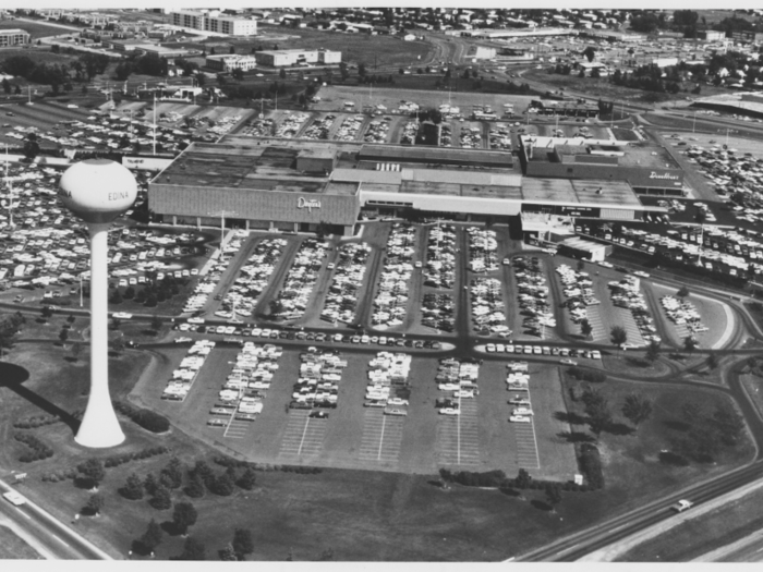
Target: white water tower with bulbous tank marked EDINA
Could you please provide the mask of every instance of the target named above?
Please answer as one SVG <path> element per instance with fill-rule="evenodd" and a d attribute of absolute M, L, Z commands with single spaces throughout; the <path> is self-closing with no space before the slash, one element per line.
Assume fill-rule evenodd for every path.
<path fill-rule="evenodd" d="M 135 202 L 137 184 L 119 163 L 86 159 L 66 169 L 58 194 L 90 234 L 90 395 L 74 440 L 84 447 L 114 447 L 124 434 L 109 395 L 107 239 L 111 222 Z"/>

